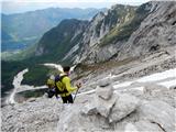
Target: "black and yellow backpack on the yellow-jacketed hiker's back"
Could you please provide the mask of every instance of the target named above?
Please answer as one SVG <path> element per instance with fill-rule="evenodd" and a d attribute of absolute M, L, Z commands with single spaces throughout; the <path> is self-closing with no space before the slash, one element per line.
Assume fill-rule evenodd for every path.
<path fill-rule="evenodd" d="M 63 78 L 66 76 L 67 75 L 64 75 L 64 76 L 56 75 L 55 76 L 55 92 L 57 95 L 68 92 L 67 89 L 63 87 L 63 82 L 62 82 Z"/>

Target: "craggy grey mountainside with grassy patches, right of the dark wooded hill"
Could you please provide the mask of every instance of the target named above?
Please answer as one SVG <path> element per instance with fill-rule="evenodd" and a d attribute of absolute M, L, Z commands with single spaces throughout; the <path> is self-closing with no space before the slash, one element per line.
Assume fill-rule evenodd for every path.
<path fill-rule="evenodd" d="M 167 51 L 168 46 L 176 45 L 174 41 L 176 36 L 176 2 L 152 1 L 138 9 L 123 8 L 127 10 L 123 18 L 116 14 L 117 20 L 114 20 L 111 14 L 119 11 L 117 6 L 107 14 L 100 13 L 95 21 L 92 20 L 89 29 L 85 32 L 85 46 L 78 62 L 92 64 L 110 58 L 122 61 L 158 50 Z M 112 18 L 106 24 L 109 15 Z M 95 35 L 94 26 L 99 28 L 99 35 Z M 91 31 L 92 28 L 94 31 Z"/>

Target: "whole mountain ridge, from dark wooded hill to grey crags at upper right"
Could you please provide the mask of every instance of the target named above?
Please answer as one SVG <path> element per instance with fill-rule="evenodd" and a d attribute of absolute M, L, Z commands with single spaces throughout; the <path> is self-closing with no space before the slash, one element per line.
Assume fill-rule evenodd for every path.
<path fill-rule="evenodd" d="M 55 30 L 45 33 L 35 53 L 40 51 L 41 54 L 47 50 L 53 54 L 59 52 L 62 61 L 72 57 L 72 61 L 67 59 L 72 64 L 123 61 L 156 51 L 169 53 L 167 47 L 175 48 L 176 45 L 175 12 L 174 1 L 152 1 L 140 7 L 117 4 L 107 12 L 95 15 L 82 28 L 80 24 L 75 24 L 77 30 L 82 31 L 79 35 L 77 32 L 72 32 L 72 35 L 65 34 L 62 38 L 61 34 L 67 30 L 65 25 L 73 20 L 63 21 Z M 78 36 L 75 37 L 76 35 Z M 76 41 L 73 44 L 74 38 Z M 52 48 L 46 47 L 46 44 L 53 45 Z M 68 50 L 64 51 L 62 47 L 67 45 Z"/>

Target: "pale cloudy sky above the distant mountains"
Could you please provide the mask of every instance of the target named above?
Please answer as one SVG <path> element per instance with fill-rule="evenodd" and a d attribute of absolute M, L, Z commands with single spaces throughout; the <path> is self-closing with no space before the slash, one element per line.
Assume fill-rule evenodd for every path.
<path fill-rule="evenodd" d="M 9 14 L 51 7 L 110 8 L 116 3 L 139 6 L 147 1 L 150 0 L 1 0 L 1 12 Z"/>

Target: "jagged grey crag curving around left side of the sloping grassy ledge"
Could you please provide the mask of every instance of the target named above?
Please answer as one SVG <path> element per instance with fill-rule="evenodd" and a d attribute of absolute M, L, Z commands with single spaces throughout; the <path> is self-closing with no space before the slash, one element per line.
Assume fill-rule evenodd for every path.
<path fill-rule="evenodd" d="M 135 10 L 134 7 L 118 4 L 107 11 L 107 13 L 100 12 L 97 14 L 84 33 L 84 47 L 78 56 L 79 62 L 84 62 L 85 64 L 103 62 L 117 54 L 119 45 L 110 43 L 108 46 L 101 47 L 101 38 L 111 30 L 114 30 L 116 26 L 121 25 L 123 21 L 128 21 L 133 10 Z M 123 16 L 121 16 L 120 11 L 123 12 Z"/>

